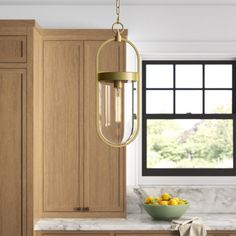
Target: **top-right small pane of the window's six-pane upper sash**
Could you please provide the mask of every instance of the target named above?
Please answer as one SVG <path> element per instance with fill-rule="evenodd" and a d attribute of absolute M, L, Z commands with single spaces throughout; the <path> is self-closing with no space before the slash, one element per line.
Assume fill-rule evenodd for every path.
<path fill-rule="evenodd" d="M 232 65 L 205 65 L 206 88 L 232 88 Z"/>

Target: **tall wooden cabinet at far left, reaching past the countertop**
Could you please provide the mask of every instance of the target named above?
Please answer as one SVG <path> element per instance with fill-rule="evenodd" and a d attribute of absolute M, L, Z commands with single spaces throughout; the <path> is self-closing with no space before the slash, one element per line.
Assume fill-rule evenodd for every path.
<path fill-rule="evenodd" d="M 33 20 L 0 21 L 0 235 L 33 234 Z"/>

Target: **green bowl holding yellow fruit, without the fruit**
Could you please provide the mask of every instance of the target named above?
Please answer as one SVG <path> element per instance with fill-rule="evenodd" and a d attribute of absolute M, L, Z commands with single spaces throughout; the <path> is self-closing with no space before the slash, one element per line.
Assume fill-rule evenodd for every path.
<path fill-rule="evenodd" d="M 173 220 L 180 218 L 189 208 L 189 204 L 178 206 L 160 206 L 143 204 L 146 212 L 155 220 Z"/>

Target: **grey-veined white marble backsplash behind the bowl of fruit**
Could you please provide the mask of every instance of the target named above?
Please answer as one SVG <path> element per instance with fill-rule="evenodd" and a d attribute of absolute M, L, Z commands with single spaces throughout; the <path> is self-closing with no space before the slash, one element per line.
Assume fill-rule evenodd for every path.
<path fill-rule="evenodd" d="M 189 213 L 236 212 L 236 186 L 128 186 L 127 212 L 143 213 L 143 199 L 146 196 L 159 196 L 164 192 L 187 199 L 190 203 Z"/>

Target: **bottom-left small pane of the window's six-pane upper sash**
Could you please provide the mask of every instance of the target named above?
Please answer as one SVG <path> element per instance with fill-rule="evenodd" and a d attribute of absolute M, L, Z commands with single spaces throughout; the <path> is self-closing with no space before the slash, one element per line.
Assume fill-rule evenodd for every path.
<path fill-rule="evenodd" d="M 147 91 L 146 113 L 173 113 L 173 91 Z"/>

